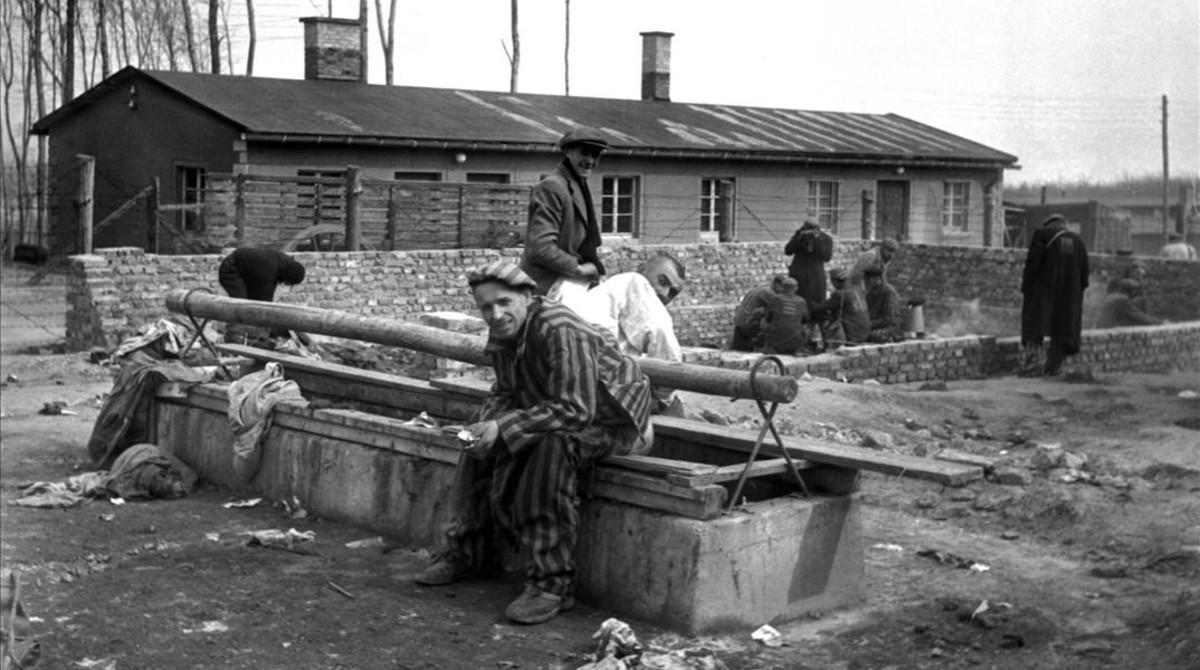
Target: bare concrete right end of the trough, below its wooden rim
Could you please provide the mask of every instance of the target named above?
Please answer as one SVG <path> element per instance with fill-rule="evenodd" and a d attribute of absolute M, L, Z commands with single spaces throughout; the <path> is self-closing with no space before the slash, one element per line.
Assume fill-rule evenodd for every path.
<path fill-rule="evenodd" d="M 696 520 L 592 499 L 576 552 L 584 600 L 690 635 L 860 602 L 857 496 L 781 497 Z"/>

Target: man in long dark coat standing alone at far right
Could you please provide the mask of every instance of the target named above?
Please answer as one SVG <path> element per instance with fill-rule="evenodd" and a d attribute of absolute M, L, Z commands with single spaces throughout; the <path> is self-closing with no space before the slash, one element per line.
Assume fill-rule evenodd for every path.
<path fill-rule="evenodd" d="M 1057 375 L 1068 355 L 1079 353 L 1087 288 L 1087 247 L 1067 229 L 1061 214 L 1046 219 L 1033 233 L 1021 277 L 1021 347 L 1024 372 L 1033 371 L 1042 342 L 1050 336 L 1043 375 Z"/>

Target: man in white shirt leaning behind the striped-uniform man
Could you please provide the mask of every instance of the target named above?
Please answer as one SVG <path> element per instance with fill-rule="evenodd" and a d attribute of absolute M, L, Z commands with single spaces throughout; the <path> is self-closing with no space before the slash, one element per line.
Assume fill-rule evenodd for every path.
<path fill-rule="evenodd" d="M 611 335 L 622 353 L 662 360 L 683 360 L 667 311 L 684 288 L 686 271 L 670 253 L 660 253 L 636 273 L 620 273 L 600 282 L 586 294 L 564 304 Z M 682 403 L 673 389 L 654 389 L 655 413 L 682 415 Z"/>

